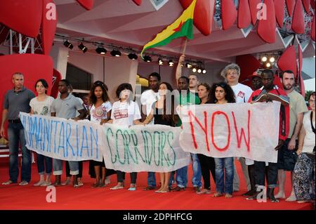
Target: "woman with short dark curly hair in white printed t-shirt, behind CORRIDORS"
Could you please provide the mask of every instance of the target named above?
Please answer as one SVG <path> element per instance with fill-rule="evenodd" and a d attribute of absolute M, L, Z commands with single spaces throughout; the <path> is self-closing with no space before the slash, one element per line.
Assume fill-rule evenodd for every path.
<path fill-rule="evenodd" d="M 141 119 L 140 110 L 133 99 L 133 88 L 131 84 L 121 84 L 117 87 L 117 98 L 119 101 L 113 103 L 111 120 L 108 123 L 117 124 L 120 126 L 133 126 L 134 124 L 143 124 Z M 131 173 L 131 187 L 129 190 L 136 190 L 137 173 Z M 110 188 L 110 190 L 119 190 L 124 188 L 125 173 L 117 171 L 117 185 Z"/>

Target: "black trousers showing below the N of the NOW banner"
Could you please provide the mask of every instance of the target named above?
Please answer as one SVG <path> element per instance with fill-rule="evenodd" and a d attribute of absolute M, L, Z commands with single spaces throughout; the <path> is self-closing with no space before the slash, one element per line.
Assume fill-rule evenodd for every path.
<path fill-rule="evenodd" d="M 213 157 L 206 157 L 204 154 L 197 154 L 197 157 L 199 158 L 199 164 L 201 165 L 204 188 L 211 190 L 211 176 L 209 171 L 211 171 L 215 182 L 215 160 Z"/>

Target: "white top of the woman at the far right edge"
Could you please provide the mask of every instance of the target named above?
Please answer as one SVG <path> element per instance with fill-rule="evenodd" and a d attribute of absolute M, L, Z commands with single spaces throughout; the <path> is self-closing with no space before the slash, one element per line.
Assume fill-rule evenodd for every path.
<path fill-rule="evenodd" d="M 303 127 L 305 129 L 305 138 L 302 152 L 312 152 L 315 147 L 315 133 L 312 132 L 312 126 L 310 125 L 310 113 L 312 111 L 305 112 L 303 117 Z M 315 128 L 315 121 L 312 123 Z"/>

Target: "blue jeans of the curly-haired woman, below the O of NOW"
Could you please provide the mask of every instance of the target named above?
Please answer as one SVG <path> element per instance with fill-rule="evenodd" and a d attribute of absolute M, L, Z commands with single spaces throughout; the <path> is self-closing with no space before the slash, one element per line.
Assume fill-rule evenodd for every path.
<path fill-rule="evenodd" d="M 232 195 L 232 180 L 234 179 L 234 158 L 214 158 L 215 159 L 215 178 L 216 192 Z M 225 186 L 224 186 L 225 169 Z"/>

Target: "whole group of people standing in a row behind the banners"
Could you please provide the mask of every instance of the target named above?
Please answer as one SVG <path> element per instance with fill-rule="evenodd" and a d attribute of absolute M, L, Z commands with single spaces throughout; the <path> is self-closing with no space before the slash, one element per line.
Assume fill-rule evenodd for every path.
<path fill-rule="evenodd" d="M 23 126 L 19 119 L 20 112 L 41 114 L 65 119 L 89 119 L 100 125 L 105 123 L 118 126 L 133 126 L 147 124 L 161 124 L 166 126 L 182 126 L 176 108 L 183 105 L 200 104 L 226 104 L 226 103 L 254 103 L 265 93 L 274 93 L 277 98 L 265 97 L 269 103 L 279 100 L 279 143 L 277 163 L 252 161 L 245 158 L 213 158 L 204 154 L 193 154 L 192 158 L 192 185 L 197 194 L 211 193 L 211 176 L 216 183 L 216 192 L 213 197 L 224 196 L 230 198 L 233 192 L 239 191 L 239 177 L 235 162 L 242 166 L 242 173 L 248 192 L 244 193 L 246 199 L 256 199 L 265 191 L 267 181 L 267 195 L 271 202 L 285 199 L 284 183 L 286 171 L 291 171 L 292 191 L 287 198 L 288 202 L 315 201 L 315 92 L 309 96 L 310 110 L 305 104 L 303 96 L 295 89 L 294 72 L 282 72 L 282 88 L 274 84 L 275 75 L 272 70 L 263 70 L 261 74 L 253 74 L 250 79 L 253 89 L 239 83 L 240 68 L 236 64 L 227 65 L 221 75 L 225 82 L 209 85 L 199 83 L 197 75 L 181 76 L 181 64 L 185 55 L 180 57 L 176 71 L 178 95 L 170 95 L 173 91 L 171 84 L 161 82 L 158 73 L 153 72 L 148 77 L 149 90 L 140 97 L 141 110 L 133 99 L 131 84 L 120 84 L 116 96 L 119 100 L 110 102 L 108 88 L 102 81 L 96 81 L 91 87 L 90 94 L 84 101 L 72 95 L 71 85 L 67 79 L 58 83 L 59 94 L 57 98 L 47 95 L 48 84 L 46 80 L 39 79 L 35 83 L 37 97 L 23 86 L 23 74 L 13 74 L 14 88 L 9 90 L 4 99 L 4 110 L 1 120 L 1 136 L 4 136 L 4 124 L 8 120 L 9 141 L 9 180 L 3 185 L 18 183 L 18 148 L 22 150 L 22 168 L 20 185 L 27 185 L 31 180 L 31 152 L 25 147 Z M 171 98 L 171 103 L 167 99 Z M 80 165 L 81 164 L 81 165 Z M 91 176 L 96 178 L 92 187 L 105 187 L 109 183 L 109 173 L 117 173 L 117 185 L 110 190 L 124 189 L 125 173 L 107 169 L 105 162 L 90 162 Z M 73 186 L 83 185 L 82 162 L 67 162 L 68 169 L 65 185 L 70 184 L 73 176 Z M 63 185 L 62 160 L 51 159 L 37 154 L 37 168 L 39 182 L 35 186 L 51 185 L 51 173 L 55 176 L 55 186 Z M 46 178 L 45 178 L 46 174 Z M 136 190 L 137 173 L 130 173 L 130 191 Z M 169 191 L 182 191 L 187 187 L 188 168 L 184 166 L 176 171 L 159 173 L 160 186 L 157 187 L 154 172 L 147 174 L 147 187 L 144 190 L 166 193 Z M 202 187 L 202 178 L 204 187 Z M 175 187 L 172 187 L 176 183 Z M 275 187 L 278 192 L 275 195 Z"/>

